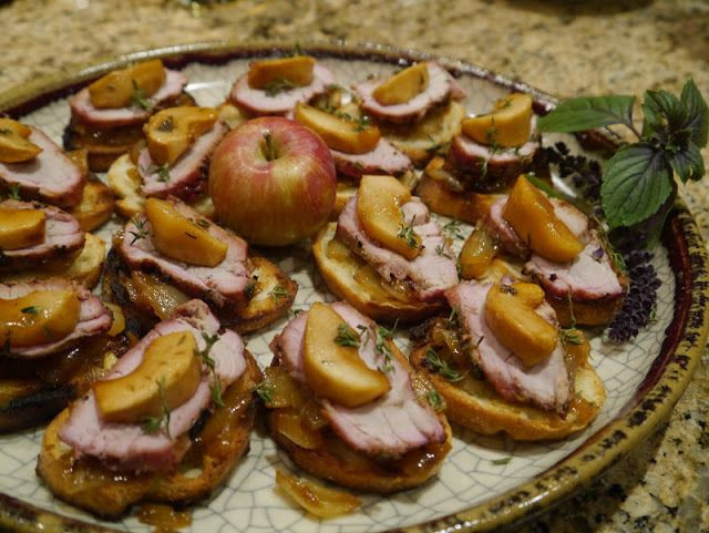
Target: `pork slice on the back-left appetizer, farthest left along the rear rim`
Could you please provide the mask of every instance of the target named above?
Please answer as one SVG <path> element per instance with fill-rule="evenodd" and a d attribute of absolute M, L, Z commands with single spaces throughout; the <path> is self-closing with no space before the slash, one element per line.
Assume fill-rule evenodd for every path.
<path fill-rule="evenodd" d="M 185 74 L 174 70 L 166 70 L 163 85 L 155 94 L 145 100 L 153 105 L 157 105 L 165 100 L 179 95 L 186 84 L 187 76 Z M 69 104 L 71 106 L 72 116 L 75 116 L 84 124 L 95 127 L 115 127 L 140 124 L 141 122 L 146 121 L 152 114 L 151 110 L 134 106 L 119 109 L 94 107 L 91 103 L 89 88 L 84 88 L 74 94 L 70 99 Z"/>

